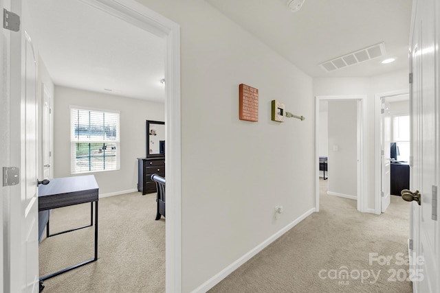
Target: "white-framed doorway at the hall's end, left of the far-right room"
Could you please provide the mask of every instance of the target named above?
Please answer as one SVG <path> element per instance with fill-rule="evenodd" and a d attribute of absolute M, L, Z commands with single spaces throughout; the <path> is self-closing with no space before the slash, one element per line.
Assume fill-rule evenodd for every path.
<path fill-rule="evenodd" d="M 356 96 L 316 96 L 316 104 L 315 104 L 315 209 L 319 211 L 319 196 L 320 196 L 320 150 L 322 150 L 320 146 L 320 126 L 322 126 L 321 119 L 325 119 L 325 115 L 320 112 L 323 106 L 327 103 L 328 108 L 338 108 L 342 110 L 341 113 L 337 114 L 335 117 L 331 117 L 329 115 L 328 119 L 331 120 L 331 125 L 329 128 L 339 128 L 347 125 L 347 119 L 352 121 L 351 126 L 355 126 L 354 129 L 351 129 L 351 135 L 336 135 L 336 137 L 329 136 L 328 137 L 328 160 L 327 160 L 327 170 L 329 178 L 327 181 L 329 183 L 329 190 L 327 194 L 332 196 L 340 196 L 344 198 L 351 198 L 357 200 L 357 209 L 358 211 L 364 212 L 366 209 L 366 196 L 362 191 L 363 185 L 363 177 L 364 173 L 364 164 L 363 164 L 363 149 L 362 149 L 362 129 L 364 125 L 364 115 L 363 107 L 364 107 L 364 99 L 366 96 L 364 95 L 356 95 Z M 336 103 L 339 103 L 336 105 Z M 334 104 L 334 106 L 333 106 Z M 325 108 L 325 106 L 324 106 Z M 345 109 L 345 110 L 344 110 Z M 322 117 L 322 118 L 321 118 Z M 333 131 L 333 130 L 330 130 Z M 334 133 L 338 133 L 338 131 L 333 131 Z M 344 134 L 344 132 L 339 131 L 339 134 Z M 350 145 L 353 145 L 352 150 Z M 355 146 L 354 146 L 355 145 Z M 349 156 L 350 159 L 347 159 L 346 156 Z M 325 157 L 325 156 L 324 156 Z M 322 161 L 322 160 L 321 160 Z M 333 166 L 331 165 L 333 161 Z M 350 166 L 349 175 L 347 174 L 338 174 L 336 170 L 342 170 L 348 165 Z M 345 166 L 345 167 L 344 167 Z M 332 169 L 334 171 L 332 171 Z M 355 181 L 355 186 L 351 186 L 349 191 L 345 191 L 345 185 L 342 183 L 344 180 L 344 176 L 353 175 L 353 180 Z M 331 178 L 333 177 L 333 183 L 336 185 L 332 185 L 330 183 Z M 347 180 L 346 180 L 347 182 Z M 335 190 L 331 190 L 333 187 Z M 339 186 L 339 187 L 338 187 Z"/>

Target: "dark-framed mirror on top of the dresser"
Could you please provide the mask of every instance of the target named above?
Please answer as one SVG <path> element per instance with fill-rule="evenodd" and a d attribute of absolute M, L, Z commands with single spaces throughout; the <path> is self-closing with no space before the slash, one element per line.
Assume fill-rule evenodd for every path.
<path fill-rule="evenodd" d="M 165 122 L 146 120 L 146 157 L 165 156 Z"/>

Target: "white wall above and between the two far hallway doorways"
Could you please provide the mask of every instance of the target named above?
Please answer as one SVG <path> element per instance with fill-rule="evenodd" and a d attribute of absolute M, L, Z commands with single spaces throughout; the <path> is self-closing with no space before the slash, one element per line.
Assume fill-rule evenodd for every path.
<path fill-rule="evenodd" d="M 364 194 L 368 196 L 367 209 L 375 209 L 374 151 L 375 151 L 375 94 L 408 90 L 408 69 L 394 71 L 370 78 L 314 78 L 314 95 L 367 95 L 362 115 L 368 123 L 364 125 L 364 165 L 368 172 L 364 176 Z"/>

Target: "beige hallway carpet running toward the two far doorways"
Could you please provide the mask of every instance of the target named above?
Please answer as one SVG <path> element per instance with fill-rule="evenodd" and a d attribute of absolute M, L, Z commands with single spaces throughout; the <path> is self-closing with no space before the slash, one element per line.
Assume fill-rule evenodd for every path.
<path fill-rule="evenodd" d="M 209 292 L 412 292 L 408 266 L 396 256 L 408 256 L 408 221 L 409 203 L 398 196 L 382 215 L 359 213 L 355 200 L 328 196 L 327 180 L 321 179 L 320 212 Z M 386 264 L 373 255 L 393 259 Z"/>

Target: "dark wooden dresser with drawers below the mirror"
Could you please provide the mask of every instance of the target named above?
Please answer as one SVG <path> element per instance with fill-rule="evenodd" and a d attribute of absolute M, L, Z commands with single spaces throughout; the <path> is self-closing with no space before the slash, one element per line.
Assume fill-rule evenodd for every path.
<path fill-rule="evenodd" d="M 165 157 L 137 158 L 137 191 L 142 191 L 142 195 L 156 192 L 153 174 L 165 177 Z"/>

